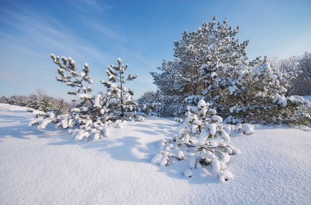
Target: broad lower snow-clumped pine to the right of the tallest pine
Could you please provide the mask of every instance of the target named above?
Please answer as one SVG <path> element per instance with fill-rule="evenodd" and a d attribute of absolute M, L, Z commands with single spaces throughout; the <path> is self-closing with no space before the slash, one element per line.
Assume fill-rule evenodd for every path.
<path fill-rule="evenodd" d="M 285 96 L 298 73 L 279 72 L 270 65 L 268 56 L 253 60 L 249 66 L 233 66 L 232 77 L 221 90 L 223 95 L 215 98 L 217 109 L 224 117 L 230 114 L 226 119 L 230 123 L 309 125 L 310 102 L 299 96 Z"/>

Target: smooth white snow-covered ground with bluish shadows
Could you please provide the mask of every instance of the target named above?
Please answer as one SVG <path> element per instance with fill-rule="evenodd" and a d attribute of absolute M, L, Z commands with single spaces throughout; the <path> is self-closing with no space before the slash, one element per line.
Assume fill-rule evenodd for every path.
<path fill-rule="evenodd" d="M 2 106 L 2 105 L 1 105 Z M 27 124 L 23 108 L 0 109 L 0 204 L 310 204 L 311 131 L 256 126 L 235 136 L 234 179 L 225 183 L 180 161 L 151 164 L 158 140 L 176 122 L 150 117 L 110 130 L 110 138 L 74 141 L 64 130 Z"/>

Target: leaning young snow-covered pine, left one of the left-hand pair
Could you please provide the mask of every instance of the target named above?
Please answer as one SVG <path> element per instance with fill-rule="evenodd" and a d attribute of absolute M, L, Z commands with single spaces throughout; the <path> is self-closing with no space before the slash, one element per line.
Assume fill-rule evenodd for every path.
<path fill-rule="evenodd" d="M 33 111 L 33 115 L 36 117 L 29 125 L 38 124 L 38 128 L 44 129 L 50 123 L 56 123 L 56 127 L 63 127 L 64 129 L 69 127 L 76 127 L 76 129 L 70 129 L 73 136 L 76 139 L 89 139 L 92 135 L 103 136 L 105 134 L 105 126 L 101 122 L 95 123 L 100 116 L 100 109 L 94 107 L 94 97 L 90 95 L 91 87 L 84 87 L 83 83 L 93 83 L 91 77 L 88 75 L 89 68 L 85 63 L 81 73 L 76 70 L 75 61 L 69 57 L 66 58 L 51 54 L 51 57 L 57 68 L 59 76 L 56 76 L 56 80 L 65 83 L 67 86 L 76 88 L 73 91 L 69 91 L 69 95 L 79 95 L 78 99 L 73 99 L 76 102 L 75 107 L 71 108 L 68 113 L 55 113 L 49 111 L 47 113 L 43 111 Z M 94 123 L 93 123 L 94 122 Z"/>

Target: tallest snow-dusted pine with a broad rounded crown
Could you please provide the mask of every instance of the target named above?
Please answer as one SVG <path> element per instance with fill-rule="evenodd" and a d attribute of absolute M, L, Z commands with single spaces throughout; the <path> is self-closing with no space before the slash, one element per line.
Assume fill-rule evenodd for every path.
<path fill-rule="evenodd" d="M 239 43 L 239 40 L 235 39 L 238 31 L 239 26 L 233 29 L 228 25 L 227 18 L 222 23 L 216 23 L 214 16 L 212 22 L 203 22 L 198 31 L 187 33 L 185 30 L 182 39 L 175 41 L 175 60 L 163 60 L 162 66 L 158 68 L 162 73 L 151 73 L 154 84 L 163 96 L 174 96 L 174 99 L 178 99 L 173 107 L 178 107 L 179 110 L 171 114 L 184 113 L 186 102 L 183 100 L 188 96 L 201 96 L 202 91 L 205 91 L 204 97 L 210 101 L 217 95 L 217 89 L 221 85 L 214 78 L 222 74 L 219 62 L 244 62 L 240 59 L 246 58 L 245 48 L 248 41 Z M 203 64 L 206 65 L 203 67 L 204 72 Z"/>

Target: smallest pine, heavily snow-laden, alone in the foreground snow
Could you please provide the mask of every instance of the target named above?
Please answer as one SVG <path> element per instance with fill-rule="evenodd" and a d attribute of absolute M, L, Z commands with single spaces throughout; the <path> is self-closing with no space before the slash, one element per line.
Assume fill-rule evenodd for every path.
<path fill-rule="evenodd" d="M 161 151 L 153 157 L 152 163 L 166 166 L 169 162 L 187 160 L 189 169 L 183 172 L 186 177 L 192 176 L 191 169 L 206 168 L 220 181 L 229 180 L 233 175 L 228 170 L 227 162 L 231 155 L 240 153 L 230 144 L 230 134 L 235 130 L 251 134 L 254 127 L 250 124 L 223 124 L 216 110 L 210 109 L 209 103 L 204 100 L 200 100 L 197 106 L 189 105 L 187 109 L 178 134 L 158 143 Z"/>

